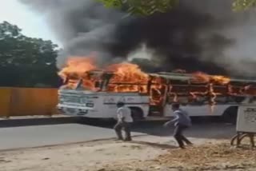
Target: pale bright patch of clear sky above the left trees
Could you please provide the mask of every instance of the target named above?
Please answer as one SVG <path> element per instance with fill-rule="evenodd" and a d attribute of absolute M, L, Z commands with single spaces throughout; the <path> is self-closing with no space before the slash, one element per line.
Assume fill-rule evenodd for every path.
<path fill-rule="evenodd" d="M 29 37 L 43 38 L 58 43 L 46 24 L 44 16 L 31 11 L 18 0 L 4 0 L 1 4 L 0 22 L 10 22 L 22 29 Z"/>

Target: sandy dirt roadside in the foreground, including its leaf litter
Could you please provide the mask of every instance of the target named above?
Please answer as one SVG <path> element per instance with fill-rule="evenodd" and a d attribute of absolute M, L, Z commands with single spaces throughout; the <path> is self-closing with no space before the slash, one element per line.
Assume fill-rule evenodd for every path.
<path fill-rule="evenodd" d="M 255 170 L 256 151 L 226 139 L 190 138 L 178 149 L 172 137 L 141 136 L 132 142 L 94 141 L 0 152 L 2 171 Z"/>

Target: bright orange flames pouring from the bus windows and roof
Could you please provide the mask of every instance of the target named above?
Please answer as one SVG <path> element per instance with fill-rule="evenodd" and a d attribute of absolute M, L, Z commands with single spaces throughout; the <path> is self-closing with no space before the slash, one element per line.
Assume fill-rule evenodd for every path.
<path fill-rule="evenodd" d="M 185 85 L 186 88 L 184 88 L 184 85 L 175 85 L 174 82 L 167 84 L 162 78 L 151 78 L 139 66 L 128 62 L 110 65 L 101 69 L 102 75 L 100 77 L 93 77 L 90 74 L 90 71 L 95 70 L 98 70 L 98 67 L 95 65 L 93 56 L 87 58 L 74 57 L 68 59 L 66 66 L 58 75 L 64 81 L 70 80 L 67 84 L 69 88 L 74 88 L 81 79 L 84 88 L 97 90 L 95 83 L 102 82 L 103 73 L 110 73 L 113 75 L 107 83 L 105 91 L 148 93 L 150 94 L 152 105 L 161 105 L 166 99 L 180 102 L 182 97 L 185 96 L 192 97 L 193 101 L 198 101 L 200 97 L 207 97 L 211 111 L 213 111 L 216 99 L 220 95 L 233 96 L 247 93 L 256 95 L 256 89 L 251 85 L 243 87 L 231 85 L 230 78 L 220 75 L 213 76 L 202 72 L 192 74 L 187 85 Z M 176 71 L 186 73 L 185 70 Z M 221 87 L 221 90 L 218 87 Z M 168 97 L 164 97 L 166 93 Z"/>

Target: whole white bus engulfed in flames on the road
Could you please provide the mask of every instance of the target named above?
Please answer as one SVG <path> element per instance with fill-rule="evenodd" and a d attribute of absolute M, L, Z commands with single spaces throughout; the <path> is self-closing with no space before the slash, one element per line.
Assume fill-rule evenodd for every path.
<path fill-rule="evenodd" d="M 130 63 L 98 70 L 90 58 L 71 58 L 59 73 L 64 85 L 58 91 L 61 113 L 113 118 L 123 101 L 134 120 L 171 117 L 171 104 L 179 102 L 191 117 L 223 116 L 235 121 L 238 105 L 256 102 L 256 82 L 202 73 L 146 74 Z"/>

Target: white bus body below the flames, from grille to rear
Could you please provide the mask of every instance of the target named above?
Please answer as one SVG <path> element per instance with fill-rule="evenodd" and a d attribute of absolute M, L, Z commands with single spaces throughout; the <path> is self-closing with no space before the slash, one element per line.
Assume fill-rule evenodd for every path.
<path fill-rule="evenodd" d="M 208 83 L 191 84 L 190 74 L 150 74 L 150 78 L 160 78 L 165 82 L 158 87 L 158 99 L 152 95 L 153 88 L 150 81 L 145 85 L 146 93 L 143 92 L 108 92 L 102 89 L 98 91 L 66 88 L 65 85 L 58 90 L 58 109 L 61 113 L 77 117 L 113 118 L 116 115 L 116 104 L 123 101 L 132 109 L 135 120 L 146 117 L 172 117 L 171 104 L 175 101 L 181 103 L 182 109 L 186 109 L 191 117 L 204 116 L 227 116 L 235 117 L 237 107 L 241 104 L 254 103 L 254 95 L 235 93 L 241 91 L 246 85 L 254 85 L 256 82 L 247 80 L 232 79 L 234 83 L 233 95 L 226 94 L 227 85 L 214 85 L 216 97 L 214 104 L 209 105 L 210 99 L 202 92 L 209 89 Z M 110 84 L 108 81 L 105 85 Z M 122 83 L 118 83 L 120 86 Z M 139 84 L 138 84 L 139 86 Z M 153 89 L 153 90 L 152 90 Z M 192 94 L 193 92 L 194 94 Z M 198 92 L 198 94 L 196 94 Z M 201 93 L 200 93 L 201 92 Z M 196 95 L 195 95 L 196 94 Z M 196 97 L 195 97 L 196 96 Z M 153 101 L 153 102 L 152 102 Z"/>

